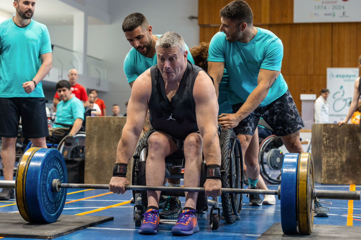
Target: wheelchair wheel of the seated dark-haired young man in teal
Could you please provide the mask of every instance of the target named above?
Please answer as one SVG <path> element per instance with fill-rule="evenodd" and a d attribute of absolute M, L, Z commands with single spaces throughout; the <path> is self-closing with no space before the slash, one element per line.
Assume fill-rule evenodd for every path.
<path fill-rule="evenodd" d="M 85 158 L 85 132 L 78 132 L 73 136 L 70 146 L 65 145 L 66 136 L 59 142 L 57 149 L 64 158 Z"/>

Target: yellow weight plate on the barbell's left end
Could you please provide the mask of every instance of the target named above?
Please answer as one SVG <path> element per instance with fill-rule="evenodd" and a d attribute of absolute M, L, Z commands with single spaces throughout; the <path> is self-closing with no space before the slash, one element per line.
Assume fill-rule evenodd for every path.
<path fill-rule="evenodd" d="M 18 210 L 20 215 L 25 219 L 25 221 L 33 222 L 32 218 L 29 214 L 29 209 L 26 204 L 26 196 L 25 196 L 25 182 L 27 175 L 27 168 L 29 167 L 29 163 L 31 161 L 32 156 L 38 151 L 40 148 L 29 148 L 22 155 L 18 170 L 16 172 L 15 178 L 15 195 L 16 195 L 16 205 L 18 206 Z"/>

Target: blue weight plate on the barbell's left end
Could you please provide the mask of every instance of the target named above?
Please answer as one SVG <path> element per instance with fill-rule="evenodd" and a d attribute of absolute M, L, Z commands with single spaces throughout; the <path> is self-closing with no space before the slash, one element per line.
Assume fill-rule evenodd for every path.
<path fill-rule="evenodd" d="M 64 208 L 67 189 L 53 192 L 53 179 L 68 182 L 64 158 L 57 149 L 39 149 L 31 157 L 25 186 L 26 203 L 34 222 L 53 223 Z"/>

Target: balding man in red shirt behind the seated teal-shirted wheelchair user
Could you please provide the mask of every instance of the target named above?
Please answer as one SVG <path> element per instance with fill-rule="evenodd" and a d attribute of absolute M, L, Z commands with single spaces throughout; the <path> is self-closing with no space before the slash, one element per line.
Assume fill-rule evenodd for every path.
<path fill-rule="evenodd" d="M 69 74 L 68 74 L 68 78 L 69 78 L 69 82 L 71 84 L 71 96 L 75 96 L 76 98 L 82 100 L 84 103 L 84 107 L 89 106 L 89 100 L 88 100 L 88 95 L 87 95 L 87 91 L 85 90 L 85 88 L 77 83 L 77 79 L 78 79 L 79 75 L 78 75 L 78 71 L 77 69 L 70 69 L 69 70 Z M 54 99 L 53 99 L 53 104 L 55 107 L 55 111 L 56 111 L 56 105 L 58 105 L 58 103 L 60 102 L 58 93 L 56 92 L 54 95 Z"/>

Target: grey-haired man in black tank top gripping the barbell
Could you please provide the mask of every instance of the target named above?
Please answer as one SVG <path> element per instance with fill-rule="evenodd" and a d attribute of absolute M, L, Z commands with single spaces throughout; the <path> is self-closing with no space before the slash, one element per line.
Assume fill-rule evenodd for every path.
<path fill-rule="evenodd" d="M 126 173 L 118 169 L 126 168 L 149 108 L 153 131 L 147 139 L 147 185 L 162 186 L 165 157 L 183 150 L 184 186 L 198 187 L 203 152 L 207 172 L 212 172 L 205 181 L 205 193 L 210 197 L 219 196 L 221 153 L 217 131 L 218 104 L 212 79 L 187 61 L 188 51 L 178 33 L 164 33 L 158 38 L 155 49 L 157 65 L 141 74 L 132 87 L 128 119 L 118 144 L 109 190 L 124 193 L 124 186 L 129 184 Z M 186 203 L 172 228 L 173 234 L 190 235 L 199 231 L 195 209 L 197 196 L 197 192 L 186 192 Z M 139 233 L 157 233 L 159 197 L 160 191 L 148 191 L 148 207 Z"/>

